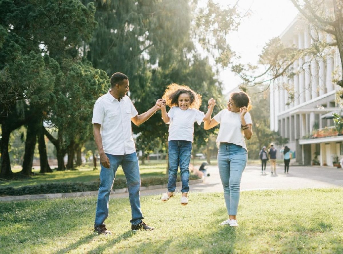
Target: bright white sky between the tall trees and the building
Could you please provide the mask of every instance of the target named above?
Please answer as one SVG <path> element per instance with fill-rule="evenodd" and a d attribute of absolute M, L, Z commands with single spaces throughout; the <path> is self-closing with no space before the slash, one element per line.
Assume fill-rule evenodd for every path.
<path fill-rule="evenodd" d="M 223 6 L 236 1 L 214 0 Z M 252 12 L 238 31 L 229 36 L 229 44 L 241 63 L 256 64 L 258 55 L 270 39 L 279 36 L 297 15 L 298 11 L 289 0 L 240 0 L 240 8 Z M 224 84 L 224 93 L 240 84 L 240 79 L 230 72 L 229 68 L 220 74 Z"/>

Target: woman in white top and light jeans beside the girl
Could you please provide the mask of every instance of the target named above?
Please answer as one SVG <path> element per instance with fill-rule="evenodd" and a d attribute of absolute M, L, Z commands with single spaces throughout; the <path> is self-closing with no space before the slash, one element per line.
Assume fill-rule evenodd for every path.
<path fill-rule="evenodd" d="M 244 141 L 250 139 L 251 117 L 250 97 L 245 92 L 233 92 L 227 103 L 227 109 L 220 111 L 211 120 L 204 123 L 208 130 L 220 124 L 217 137 L 219 144 L 218 168 L 224 188 L 224 199 L 229 218 L 220 225 L 237 227 L 237 207 L 239 187 L 243 170 L 247 164 L 247 147 Z"/>

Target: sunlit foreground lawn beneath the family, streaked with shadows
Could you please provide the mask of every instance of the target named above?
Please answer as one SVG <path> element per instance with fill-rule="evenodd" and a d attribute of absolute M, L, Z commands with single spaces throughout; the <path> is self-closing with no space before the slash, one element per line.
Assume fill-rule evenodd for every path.
<path fill-rule="evenodd" d="M 343 253 L 343 189 L 245 191 L 238 228 L 222 193 L 141 198 L 153 231 L 130 230 L 129 200 L 111 199 L 112 235 L 93 232 L 96 198 L 0 203 L 1 253 Z"/>

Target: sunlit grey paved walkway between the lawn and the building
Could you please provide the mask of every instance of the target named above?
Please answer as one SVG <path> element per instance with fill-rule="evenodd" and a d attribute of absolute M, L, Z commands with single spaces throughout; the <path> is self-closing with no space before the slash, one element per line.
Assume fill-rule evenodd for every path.
<path fill-rule="evenodd" d="M 289 173 L 284 174 L 283 165 L 276 166 L 276 176 L 267 167 L 267 174 L 261 174 L 260 165 L 248 165 L 242 176 L 240 189 L 246 190 L 276 190 L 276 189 L 302 189 L 302 188 L 338 188 L 343 187 L 343 169 L 320 166 L 292 166 Z M 218 167 L 208 166 L 205 182 L 190 185 L 190 192 L 222 192 Z M 177 187 L 176 191 L 181 188 Z M 166 189 L 143 190 L 142 196 L 155 195 L 166 192 Z M 111 195 L 112 196 L 112 195 Z M 127 197 L 128 193 L 113 194 L 112 197 Z"/>

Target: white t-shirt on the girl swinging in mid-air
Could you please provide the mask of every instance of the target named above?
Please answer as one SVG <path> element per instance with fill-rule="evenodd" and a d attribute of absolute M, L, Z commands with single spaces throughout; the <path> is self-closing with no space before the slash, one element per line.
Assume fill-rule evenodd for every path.
<path fill-rule="evenodd" d="M 193 108 L 182 110 L 178 106 L 174 106 L 167 114 L 170 117 L 168 141 L 187 140 L 193 142 L 194 122 L 200 125 L 205 117 L 204 112 Z"/>

